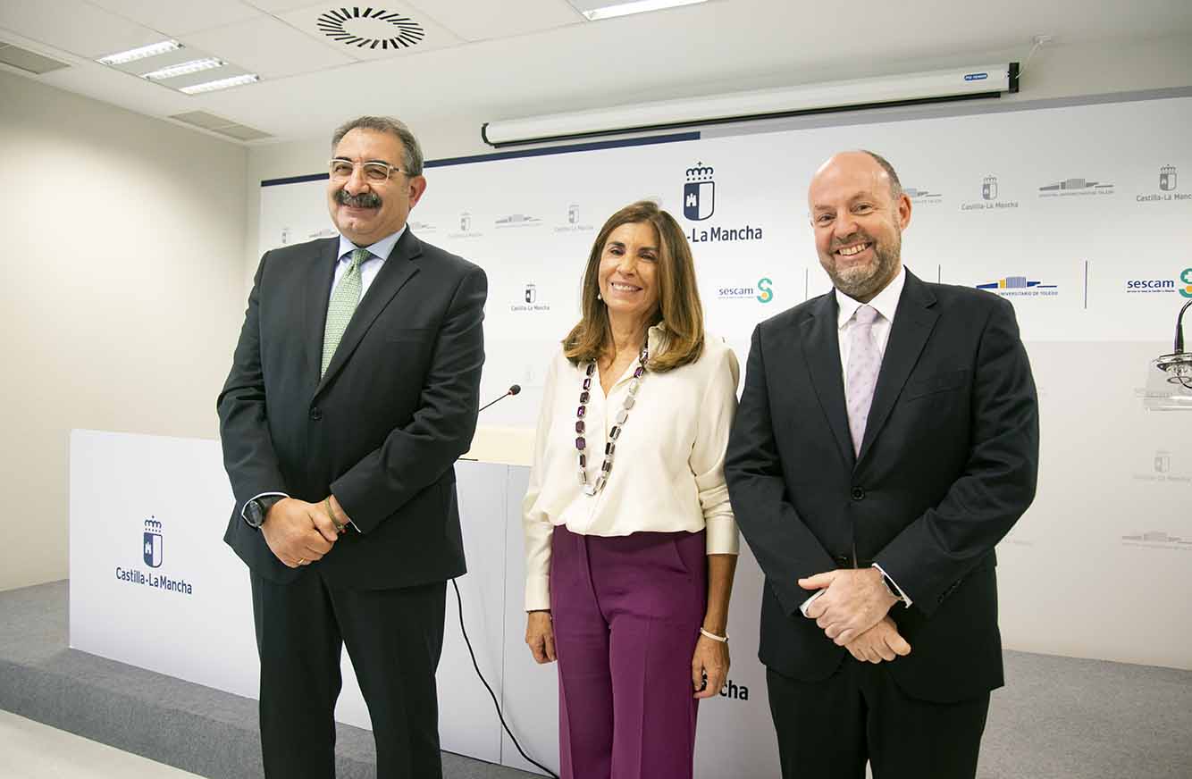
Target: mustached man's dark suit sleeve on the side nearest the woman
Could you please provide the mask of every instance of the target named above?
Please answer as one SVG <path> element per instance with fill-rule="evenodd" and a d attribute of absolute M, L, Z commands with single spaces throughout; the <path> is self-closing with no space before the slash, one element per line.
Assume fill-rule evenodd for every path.
<path fill-rule="evenodd" d="M 464 274 L 435 341 L 420 406 L 409 424 L 331 484 L 353 524 L 368 532 L 434 484 L 467 451 L 476 432 L 484 364 L 484 272 Z"/>

